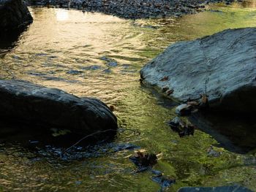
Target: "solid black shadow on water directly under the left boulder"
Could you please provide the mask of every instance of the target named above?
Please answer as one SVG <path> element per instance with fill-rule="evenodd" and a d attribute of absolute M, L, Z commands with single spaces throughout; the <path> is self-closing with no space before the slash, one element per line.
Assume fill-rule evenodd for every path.
<path fill-rule="evenodd" d="M 98 137 L 97 134 L 86 137 L 88 134 L 76 133 L 64 128 L 42 126 L 39 123 L 24 123 L 20 120 L 3 120 L 1 118 L 0 140 L 2 142 L 20 143 L 23 146 L 37 144 L 38 147 L 53 145 L 55 147 L 67 148 L 78 142 L 80 146 L 97 144 L 97 141 L 113 141 L 116 134 L 108 134 Z M 86 137 L 86 139 L 83 139 Z"/>

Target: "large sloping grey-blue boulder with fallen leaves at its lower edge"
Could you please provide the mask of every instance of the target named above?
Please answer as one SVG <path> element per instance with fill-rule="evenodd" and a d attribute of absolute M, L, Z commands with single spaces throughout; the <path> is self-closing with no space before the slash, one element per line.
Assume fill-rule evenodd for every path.
<path fill-rule="evenodd" d="M 255 112 L 256 28 L 227 29 L 170 45 L 140 76 L 179 101 L 207 93 L 217 110 Z"/>

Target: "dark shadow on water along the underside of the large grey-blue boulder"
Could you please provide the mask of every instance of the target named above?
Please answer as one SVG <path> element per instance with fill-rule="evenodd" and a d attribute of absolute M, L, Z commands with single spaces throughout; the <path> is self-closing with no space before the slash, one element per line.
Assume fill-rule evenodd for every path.
<path fill-rule="evenodd" d="M 178 102 L 166 98 L 154 88 L 149 89 L 158 99 L 158 103 L 167 109 L 178 106 Z M 256 123 L 252 115 L 227 114 L 224 112 L 197 112 L 188 117 L 201 131 L 210 134 L 223 147 L 234 153 L 246 154 L 256 147 Z"/>

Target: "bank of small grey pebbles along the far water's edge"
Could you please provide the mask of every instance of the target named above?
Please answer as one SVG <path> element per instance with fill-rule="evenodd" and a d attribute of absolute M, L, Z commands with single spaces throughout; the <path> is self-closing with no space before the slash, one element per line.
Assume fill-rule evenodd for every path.
<path fill-rule="evenodd" d="M 181 16 L 200 11 L 203 4 L 222 0 L 31 0 L 32 4 L 104 12 L 121 18 Z M 233 0 L 226 0 L 229 4 Z"/>

